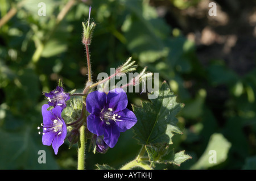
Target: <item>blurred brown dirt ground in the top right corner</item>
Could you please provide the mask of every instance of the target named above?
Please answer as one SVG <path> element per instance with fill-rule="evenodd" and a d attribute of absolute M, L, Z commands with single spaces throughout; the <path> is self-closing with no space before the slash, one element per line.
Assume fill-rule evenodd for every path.
<path fill-rule="evenodd" d="M 217 5 L 217 15 L 210 16 L 210 2 Z M 180 10 L 170 0 L 151 1 L 160 16 L 172 28 L 179 28 L 197 45 L 197 56 L 207 66 L 213 59 L 224 60 L 238 75 L 255 68 L 256 2 L 202 0 L 196 6 Z"/>

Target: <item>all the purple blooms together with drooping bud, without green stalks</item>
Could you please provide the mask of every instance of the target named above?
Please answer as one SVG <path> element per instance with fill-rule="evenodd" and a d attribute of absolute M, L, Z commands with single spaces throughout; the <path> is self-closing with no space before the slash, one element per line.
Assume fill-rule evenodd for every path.
<path fill-rule="evenodd" d="M 57 154 L 67 136 L 67 125 L 61 118 L 61 112 L 67 107 L 66 101 L 70 99 L 70 95 L 65 93 L 63 87 L 60 86 L 44 95 L 48 104 L 42 106 L 42 142 L 43 145 L 52 145 Z M 87 128 L 94 134 L 92 142 L 97 152 L 105 153 L 109 148 L 113 148 L 117 144 L 120 132 L 125 132 L 137 123 L 133 111 L 126 108 L 127 104 L 127 95 L 123 89 L 113 89 L 108 94 L 101 91 L 88 94 L 86 110 L 90 115 L 86 119 Z M 49 107 L 53 108 L 49 110 Z"/>

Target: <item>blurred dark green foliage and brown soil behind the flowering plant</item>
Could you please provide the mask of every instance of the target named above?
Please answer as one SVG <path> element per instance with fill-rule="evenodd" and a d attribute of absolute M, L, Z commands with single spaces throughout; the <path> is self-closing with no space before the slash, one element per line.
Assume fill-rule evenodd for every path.
<path fill-rule="evenodd" d="M 46 7 L 45 16 L 42 3 Z M 210 16 L 209 3 L 216 3 Z M 0 169 L 76 169 L 68 142 L 54 155 L 42 145 L 42 91 L 82 90 L 86 81 L 82 22 L 97 26 L 90 45 L 93 79 L 130 56 L 158 72 L 179 102 L 182 135 L 175 151 L 192 159 L 156 169 L 256 169 L 256 1 L 0 0 Z M 146 94 L 127 94 L 140 105 Z M 131 109 L 131 107 L 129 107 Z M 118 169 L 138 154 L 132 130 L 106 154 L 86 154 L 86 169 Z M 87 146 L 88 148 L 89 146 Z M 46 151 L 46 164 L 38 151 Z M 210 150 L 216 163 L 209 163 Z"/>

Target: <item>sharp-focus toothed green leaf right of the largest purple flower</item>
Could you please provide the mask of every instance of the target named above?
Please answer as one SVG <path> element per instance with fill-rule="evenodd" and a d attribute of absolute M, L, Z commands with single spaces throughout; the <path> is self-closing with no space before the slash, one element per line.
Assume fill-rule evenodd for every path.
<path fill-rule="evenodd" d="M 142 107 L 133 106 L 138 119 L 135 124 L 135 138 L 139 144 L 150 145 L 166 142 L 172 144 L 175 133 L 182 134 L 177 127 L 177 113 L 183 104 L 176 102 L 176 96 L 170 91 L 166 82 L 158 90 L 158 98 L 150 99 L 151 103 L 142 102 Z"/>

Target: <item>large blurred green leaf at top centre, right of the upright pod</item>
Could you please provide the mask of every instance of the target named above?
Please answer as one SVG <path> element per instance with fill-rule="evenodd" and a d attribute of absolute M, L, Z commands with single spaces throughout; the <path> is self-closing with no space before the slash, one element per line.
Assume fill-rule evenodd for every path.
<path fill-rule="evenodd" d="M 164 40 L 170 34 L 170 29 L 163 19 L 158 18 L 156 10 L 142 1 L 130 0 L 123 3 L 131 11 L 122 26 L 127 48 L 138 55 L 143 63 L 166 57 L 168 48 Z"/>

